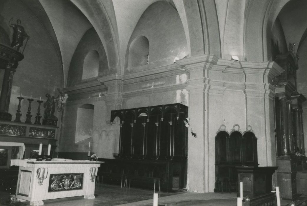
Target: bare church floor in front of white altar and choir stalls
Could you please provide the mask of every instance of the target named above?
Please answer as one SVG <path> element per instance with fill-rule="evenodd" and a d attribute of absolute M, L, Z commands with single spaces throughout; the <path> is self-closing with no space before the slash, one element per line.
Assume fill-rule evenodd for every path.
<path fill-rule="evenodd" d="M 0 204 L 5 203 L 10 194 L 0 192 Z M 95 199 L 84 199 L 83 196 L 44 200 L 48 206 L 147 206 L 153 205 L 153 191 L 137 188 L 121 188 L 118 185 L 98 184 L 95 188 Z M 163 193 L 159 194 L 158 205 L 215 205 L 234 206 L 236 205 L 236 193 Z M 27 205 L 30 202 L 25 202 Z M 3 205 L 3 204 L 1 204 Z"/>

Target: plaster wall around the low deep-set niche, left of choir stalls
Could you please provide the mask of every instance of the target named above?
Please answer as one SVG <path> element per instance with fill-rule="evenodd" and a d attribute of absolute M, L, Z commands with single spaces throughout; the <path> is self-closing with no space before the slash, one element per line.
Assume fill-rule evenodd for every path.
<path fill-rule="evenodd" d="M 75 144 L 77 110 L 84 104 L 94 105 L 92 137 Z M 107 105 L 103 97 L 67 102 L 61 130 L 60 151 L 87 152 L 88 142 L 91 142 L 91 152 L 95 152 L 99 158 L 114 158 L 114 153 L 118 152 L 119 125 L 108 124 L 110 116 L 106 114 Z"/>

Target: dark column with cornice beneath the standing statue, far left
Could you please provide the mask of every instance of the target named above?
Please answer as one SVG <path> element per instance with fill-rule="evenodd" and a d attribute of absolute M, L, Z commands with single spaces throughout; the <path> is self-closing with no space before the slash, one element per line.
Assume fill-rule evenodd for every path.
<path fill-rule="evenodd" d="M 0 69 L 5 69 L 0 96 L 0 119 L 12 120 L 12 115 L 8 113 L 10 107 L 11 90 L 13 76 L 24 56 L 16 50 L 0 44 Z"/>

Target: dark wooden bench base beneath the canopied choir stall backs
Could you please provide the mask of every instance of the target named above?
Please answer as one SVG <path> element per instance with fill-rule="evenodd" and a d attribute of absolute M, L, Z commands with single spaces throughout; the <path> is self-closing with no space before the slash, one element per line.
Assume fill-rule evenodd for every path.
<path fill-rule="evenodd" d="M 136 159 L 105 159 L 98 175 L 103 177 L 103 183 L 120 185 L 122 178 L 129 177 L 131 187 L 153 189 L 153 177 L 160 179 L 161 191 L 172 192 L 173 188 L 186 189 L 187 161 L 186 160 L 136 160 Z M 178 179 L 175 185 L 173 179 Z M 149 181 L 150 180 L 150 181 Z"/>

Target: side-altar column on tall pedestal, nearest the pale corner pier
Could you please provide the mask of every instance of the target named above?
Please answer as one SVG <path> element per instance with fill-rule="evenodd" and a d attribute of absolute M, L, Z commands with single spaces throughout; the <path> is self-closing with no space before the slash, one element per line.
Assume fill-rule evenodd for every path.
<path fill-rule="evenodd" d="M 283 199 L 294 199 L 297 195 L 296 190 L 296 158 L 293 157 L 293 121 L 292 121 L 292 106 L 291 93 L 295 90 L 290 81 L 279 81 L 275 85 L 276 98 L 276 138 L 279 138 L 281 145 L 280 156 L 276 157 L 277 169 L 277 184 L 281 191 Z"/>

